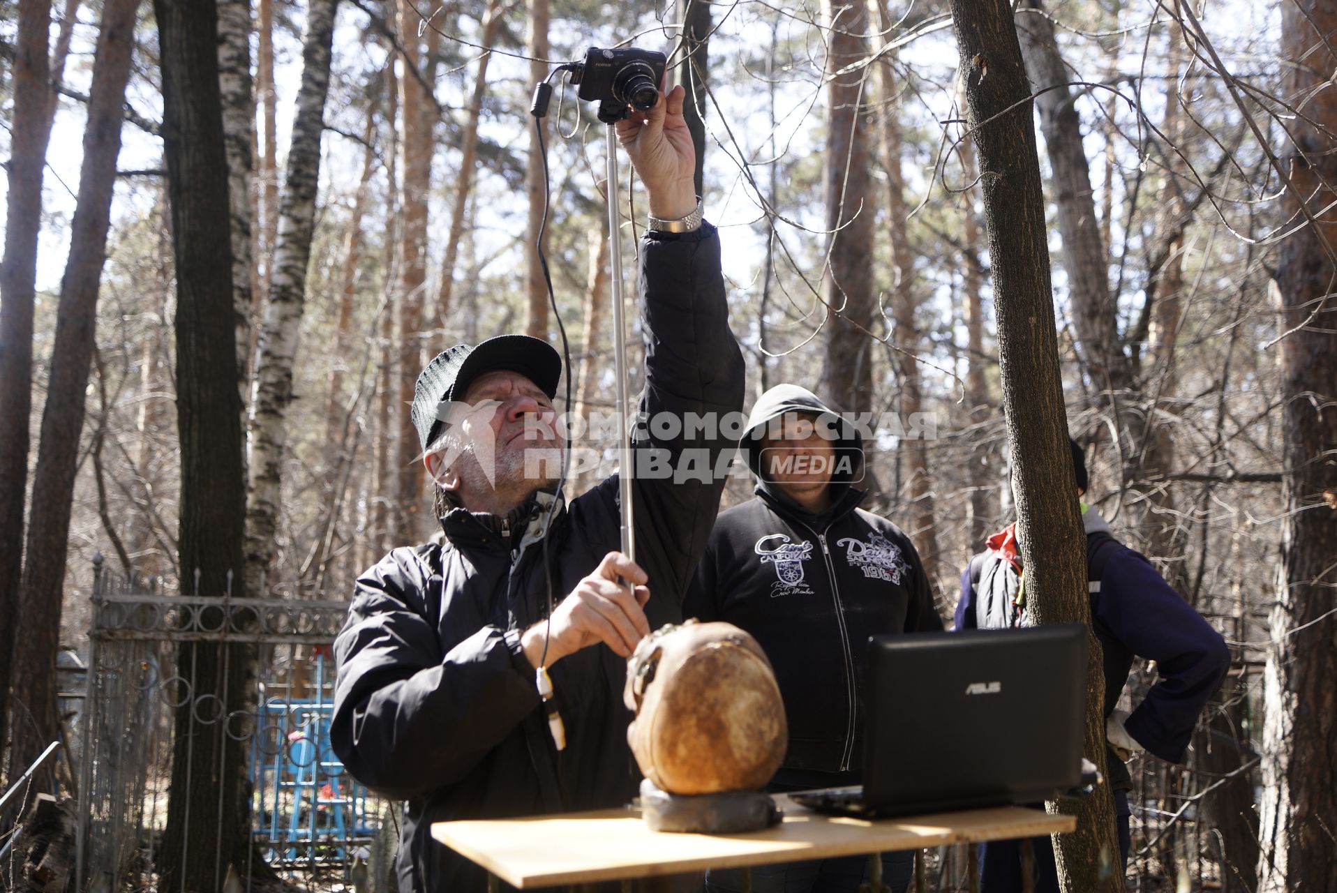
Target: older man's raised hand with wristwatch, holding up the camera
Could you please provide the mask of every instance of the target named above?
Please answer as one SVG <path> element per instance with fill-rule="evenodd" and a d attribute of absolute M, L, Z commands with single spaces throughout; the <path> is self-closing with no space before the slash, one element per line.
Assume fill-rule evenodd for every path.
<path fill-rule="evenodd" d="M 697 207 L 693 179 L 697 150 L 682 116 L 686 95 L 682 86 L 667 95 L 660 88 L 654 108 L 646 112 L 631 108 L 630 115 L 615 124 L 618 142 L 627 150 L 631 166 L 650 193 L 650 213 L 666 221 L 687 217 Z"/>

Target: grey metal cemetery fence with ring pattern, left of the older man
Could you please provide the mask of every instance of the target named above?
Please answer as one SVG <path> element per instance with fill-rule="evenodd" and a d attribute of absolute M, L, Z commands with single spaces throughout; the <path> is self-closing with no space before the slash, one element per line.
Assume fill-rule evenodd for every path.
<path fill-rule="evenodd" d="M 226 735 L 247 749 L 250 858 L 281 874 L 301 873 L 303 886 L 352 889 L 356 878 L 360 889 L 382 889 L 377 880 L 393 857 L 394 805 L 354 782 L 329 743 L 329 647 L 348 604 L 168 595 L 152 580 L 126 580 L 100 564 L 98 556 L 87 696 L 75 733 L 82 751 L 76 889 L 156 889 L 172 737 L 183 733 Z M 258 691 L 249 707 L 227 711 L 218 695 L 197 696 L 190 668 L 176 663 L 183 642 L 254 646 Z M 187 706 L 189 729 L 174 729 Z M 213 852 L 187 856 L 215 860 L 222 846 L 219 840 Z M 250 866 L 234 869 L 241 878 L 251 876 Z"/>

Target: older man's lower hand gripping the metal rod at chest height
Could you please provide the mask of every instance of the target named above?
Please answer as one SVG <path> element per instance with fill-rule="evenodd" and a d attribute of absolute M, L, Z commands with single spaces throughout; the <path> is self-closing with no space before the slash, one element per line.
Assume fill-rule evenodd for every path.
<path fill-rule="evenodd" d="M 619 578 L 635 584 L 635 598 L 624 583 L 619 583 Z M 535 667 L 544 660 L 545 634 L 548 666 L 599 642 L 622 658 L 630 656 L 640 638 L 650 634 L 650 623 L 643 611 L 650 599 L 646 580 L 646 572 L 639 564 L 622 552 L 608 552 L 599 567 L 576 583 L 576 588 L 554 608 L 551 628 L 540 622 L 521 634 L 524 656 Z"/>

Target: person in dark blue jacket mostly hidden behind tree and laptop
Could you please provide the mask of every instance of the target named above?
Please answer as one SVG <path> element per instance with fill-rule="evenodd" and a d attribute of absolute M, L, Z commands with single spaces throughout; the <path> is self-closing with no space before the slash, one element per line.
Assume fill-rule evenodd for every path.
<path fill-rule="evenodd" d="M 1078 497 L 1086 495 L 1086 456 L 1070 441 Z M 1221 634 L 1165 582 L 1140 553 L 1115 540 L 1100 513 L 1082 503 L 1087 533 L 1091 623 L 1104 651 L 1104 717 L 1107 774 L 1114 787 L 1119 854 L 1128 861 L 1128 791 L 1131 775 L 1124 762 L 1146 751 L 1166 762 L 1183 762 L 1198 714 L 1221 686 L 1230 667 L 1230 650 Z M 956 628 L 1027 626 L 1019 598 L 1021 556 L 1016 523 L 991 536 L 987 549 L 961 572 L 961 599 Z M 1131 713 L 1118 710 L 1134 656 L 1154 660 L 1158 680 Z M 1054 849 L 1048 837 L 1031 838 L 1034 890 L 1058 893 Z M 1023 841 L 980 845 L 981 893 L 1025 889 L 1021 878 Z"/>

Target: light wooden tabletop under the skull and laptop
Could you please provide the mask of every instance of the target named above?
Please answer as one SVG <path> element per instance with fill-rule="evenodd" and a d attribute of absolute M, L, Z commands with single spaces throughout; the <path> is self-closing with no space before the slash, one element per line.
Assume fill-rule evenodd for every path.
<path fill-rule="evenodd" d="M 531 889 L 1068 833 L 1076 827 L 1071 815 L 1021 806 L 865 821 L 820 815 L 782 794 L 775 797 L 775 805 L 785 819 L 749 834 L 658 833 L 646 827 L 639 811 L 626 807 L 436 822 L 432 837 L 512 886 Z"/>

